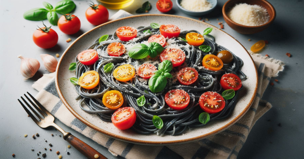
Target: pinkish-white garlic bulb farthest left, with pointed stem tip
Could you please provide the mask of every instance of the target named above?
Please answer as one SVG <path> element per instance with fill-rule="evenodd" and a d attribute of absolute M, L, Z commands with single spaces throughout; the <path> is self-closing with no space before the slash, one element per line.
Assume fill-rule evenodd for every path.
<path fill-rule="evenodd" d="M 33 77 L 40 67 L 39 61 L 33 58 L 23 57 L 22 55 L 18 55 L 17 57 L 21 59 L 20 71 L 22 76 L 24 76 L 25 79 Z"/>

